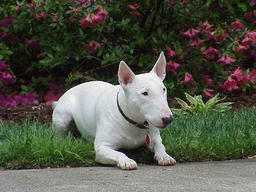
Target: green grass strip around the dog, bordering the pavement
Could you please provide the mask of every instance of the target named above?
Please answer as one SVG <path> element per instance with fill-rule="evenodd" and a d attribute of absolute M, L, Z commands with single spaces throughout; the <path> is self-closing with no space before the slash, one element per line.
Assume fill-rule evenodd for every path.
<path fill-rule="evenodd" d="M 179 162 L 229 160 L 256 154 L 256 110 L 208 112 L 175 118 L 161 132 L 166 151 Z M 125 151 L 137 163 L 155 163 L 146 147 Z M 93 144 L 54 137 L 50 124 L 0 123 L 0 167 L 45 168 L 96 165 Z"/>

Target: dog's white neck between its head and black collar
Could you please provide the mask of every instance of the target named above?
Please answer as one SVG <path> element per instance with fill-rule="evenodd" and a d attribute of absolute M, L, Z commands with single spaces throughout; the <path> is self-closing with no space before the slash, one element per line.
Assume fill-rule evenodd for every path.
<path fill-rule="evenodd" d="M 146 121 L 146 118 L 142 114 L 140 108 L 133 102 L 129 102 L 129 99 L 127 98 L 123 88 L 119 89 L 117 97 L 120 108 L 122 109 L 126 117 L 130 118 L 136 123 L 144 123 Z"/>

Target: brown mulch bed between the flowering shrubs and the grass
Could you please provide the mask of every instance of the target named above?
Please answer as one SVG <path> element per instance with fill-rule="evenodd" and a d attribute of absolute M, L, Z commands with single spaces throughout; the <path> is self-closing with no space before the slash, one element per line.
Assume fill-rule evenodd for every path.
<path fill-rule="evenodd" d="M 232 95 L 231 95 L 232 96 Z M 228 96 L 224 102 L 234 102 L 232 108 L 234 110 L 250 109 L 256 107 L 256 93 L 251 95 Z M 174 98 L 169 98 L 169 106 L 171 108 L 179 108 Z M 15 108 L 0 106 L 0 121 L 8 123 L 21 123 L 27 121 L 40 121 L 40 123 L 51 123 L 52 108 L 43 103 L 38 105 L 19 106 Z"/>

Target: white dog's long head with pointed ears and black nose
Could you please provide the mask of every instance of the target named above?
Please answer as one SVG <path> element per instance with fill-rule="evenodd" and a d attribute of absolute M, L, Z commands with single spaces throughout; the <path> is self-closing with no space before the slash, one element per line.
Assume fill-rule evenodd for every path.
<path fill-rule="evenodd" d="M 120 62 L 118 72 L 127 102 L 139 108 L 146 120 L 157 128 L 165 128 L 173 120 L 163 84 L 165 68 L 166 59 L 161 52 L 155 66 L 148 73 L 134 75 L 124 61 Z"/>

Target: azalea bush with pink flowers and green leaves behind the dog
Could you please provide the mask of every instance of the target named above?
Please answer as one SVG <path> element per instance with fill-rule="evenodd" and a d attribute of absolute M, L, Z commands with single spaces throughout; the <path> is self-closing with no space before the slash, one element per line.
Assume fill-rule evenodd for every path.
<path fill-rule="evenodd" d="M 2 1 L 0 105 L 25 104 L 15 97 L 26 94 L 51 104 L 81 82 L 117 83 L 120 60 L 146 72 L 160 51 L 170 95 L 253 92 L 254 8 L 238 0 Z"/>

